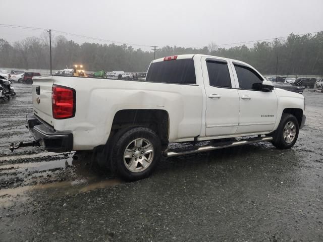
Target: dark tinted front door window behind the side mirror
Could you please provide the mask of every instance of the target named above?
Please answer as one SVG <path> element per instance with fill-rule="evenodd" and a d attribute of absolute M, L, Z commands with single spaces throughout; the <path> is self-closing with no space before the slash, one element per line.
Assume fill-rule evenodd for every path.
<path fill-rule="evenodd" d="M 234 64 L 240 89 L 261 90 L 263 79 L 249 67 Z"/>

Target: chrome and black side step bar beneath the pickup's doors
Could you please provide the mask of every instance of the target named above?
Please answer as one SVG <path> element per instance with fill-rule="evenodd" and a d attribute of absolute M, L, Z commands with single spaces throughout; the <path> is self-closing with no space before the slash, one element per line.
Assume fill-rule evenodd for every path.
<path fill-rule="evenodd" d="M 273 137 L 263 137 L 263 138 L 250 138 L 250 139 L 234 141 L 234 142 L 231 142 L 231 141 L 219 142 L 218 144 L 214 144 L 214 145 L 190 146 L 190 147 L 183 147 L 183 148 L 177 148 L 177 149 L 170 149 L 170 150 L 164 151 L 163 155 L 166 157 L 174 157 L 179 155 L 188 155 L 188 154 L 206 152 L 211 150 L 220 150 L 220 149 L 229 148 L 229 147 L 253 144 L 253 143 L 264 142 L 264 141 L 272 141 L 272 140 L 273 140 Z"/>

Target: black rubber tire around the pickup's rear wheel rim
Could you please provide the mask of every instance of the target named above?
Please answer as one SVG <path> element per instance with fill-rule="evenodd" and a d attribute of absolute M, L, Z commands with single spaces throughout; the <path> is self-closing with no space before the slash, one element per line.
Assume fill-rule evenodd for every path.
<path fill-rule="evenodd" d="M 130 165 L 130 162 L 132 162 L 133 159 L 135 158 L 125 158 L 124 160 L 124 153 L 132 141 L 140 138 L 145 139 L 146 141 L 150 142 L 150 144 L 152 145 L 153 147 L 152 159 L 149 165 L 147 166 L 147 168 L 144 168 L 142 166 L 142 169 L 143 169 L 142 171 L 133 172 L 126 167 L 125 162 L 127 163 L 126 159 L 130 159 L 129 161 L 129 165 Z M 142 147 L 144 147 L 144 145 L 142 145 Z M 149 154 L 147 155 L 149 156 Z M 112 163 L 111 166 L 112 166 L 112 169 L 113 167 L 115 167 L 118 175 L 125 180 L 134 181 L 134 180 L 140 180 L 148 177 L 157 166 L 160 160 L 160 157 L 161 157 L 160 139 L 156 135 L 156 133 L 149 128 L 134 127 L 131 129 L 119 131 L 115 135 L 115 138 L 112 140 L 111 156 L 110 156 L 111 163 Z M 138 159 L 139 159 L 139 156 L 138 156 Z M 138 166 L 136 167 L 140 169 L 141 163 L 137 161 L 137 164 Z"/>

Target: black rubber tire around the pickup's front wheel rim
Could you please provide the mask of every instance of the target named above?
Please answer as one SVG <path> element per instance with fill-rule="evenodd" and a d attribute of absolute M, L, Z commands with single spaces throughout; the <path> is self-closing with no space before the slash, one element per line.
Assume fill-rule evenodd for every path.
<path fill-rule="evenodd" d="M 286 124 L 288 124 L 289 122 L 293 122 L 295 125 L 295 136 L 290 143 L 284 139 L 284 128 Z M 298 138 L 298 133 L 299 133 L 299 124 L 298 124 L 297 118 L 292 114 L 283 113 L 281 122 L 279 123 L 279 126 L 273 135 L 274 140 L 272 141 L 272 143 L 278 149 L 290 149 L 296 143 Z"/>

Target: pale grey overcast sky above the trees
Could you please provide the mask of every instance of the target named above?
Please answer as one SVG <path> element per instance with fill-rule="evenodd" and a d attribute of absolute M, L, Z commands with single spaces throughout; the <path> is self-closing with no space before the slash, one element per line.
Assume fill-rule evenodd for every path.
<path fill-rule="evenodd" d="M 0 0 L 0 24 L 50 28 L 159 47 L 206 46 L 211 41 L 226 44 L 323 30 L 323 0 L 55 0 L 47 3 L 45 0 Z M 0 38 L 11 43 L 41 35 L 41 31 L 1 26 L 0 31 Z M 66 37 L 78 43 L 104 43 Z"/>

